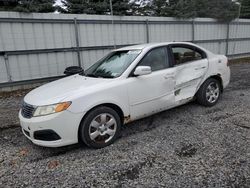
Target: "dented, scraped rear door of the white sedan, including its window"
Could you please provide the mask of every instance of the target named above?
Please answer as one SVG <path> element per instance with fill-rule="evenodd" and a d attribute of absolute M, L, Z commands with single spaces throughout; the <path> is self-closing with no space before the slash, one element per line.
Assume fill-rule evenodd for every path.
<path fill-rule="evenodd" d="M 175 102 L 191 99 L 208 70 L 206 53 L 189 44 L 169 46 L 172 67 L 175 68 Z"/>

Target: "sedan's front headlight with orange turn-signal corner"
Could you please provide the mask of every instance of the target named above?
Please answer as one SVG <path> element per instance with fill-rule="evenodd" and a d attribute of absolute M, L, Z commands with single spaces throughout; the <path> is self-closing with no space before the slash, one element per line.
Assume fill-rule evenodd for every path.
<path fill-rule="evenodd" d="M 47 106 L 38 106 L 33 114 L 33 117 L 45 116 L 49 114 L 54 114 L 57 112 L 62 112 L 66 110 L 71 105 L 71 102 L 62 102 L 58 104 L 52 104 Z"/>

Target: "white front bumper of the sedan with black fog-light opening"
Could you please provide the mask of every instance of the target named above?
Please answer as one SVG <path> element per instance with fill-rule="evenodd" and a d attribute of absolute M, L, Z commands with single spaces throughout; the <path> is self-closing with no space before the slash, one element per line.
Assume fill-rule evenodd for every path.
<path fill-rule="evenodd" d="M 67 110 L 47 116 L 24 118 L 19 112 L 23 134 L 34 144 L 61 147 L 78 142 L 78 128 L 83 117 Z"/>

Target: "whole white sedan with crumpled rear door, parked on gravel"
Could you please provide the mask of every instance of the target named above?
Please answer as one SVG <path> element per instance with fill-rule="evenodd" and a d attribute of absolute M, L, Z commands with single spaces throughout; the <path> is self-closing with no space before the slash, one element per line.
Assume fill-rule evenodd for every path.
<path fill-rule="evenodd" d="M 229 80 L 227 58 L 192 43 L 129 46 L 110 52 L 84 74 L 32 90 L 19 118 L 34 144 L 102 148 L 128 122 L 193 99 L 215 105 Z"/>

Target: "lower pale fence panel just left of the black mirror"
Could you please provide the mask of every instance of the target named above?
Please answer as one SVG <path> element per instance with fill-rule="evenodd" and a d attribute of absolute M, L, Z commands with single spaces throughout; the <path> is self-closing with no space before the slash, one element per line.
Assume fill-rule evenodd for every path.
<path fill-rule="evenodd" d="M 62 75 L 66 67 L 77 65 L 75 52 L 9 56 L 13 81 Z"/>

